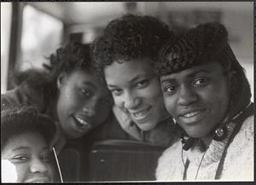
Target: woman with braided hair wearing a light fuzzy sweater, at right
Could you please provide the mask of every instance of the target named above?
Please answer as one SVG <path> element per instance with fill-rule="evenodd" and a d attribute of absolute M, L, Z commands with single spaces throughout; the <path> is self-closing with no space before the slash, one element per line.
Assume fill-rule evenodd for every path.
<path fill-rule="evenodd" d="M 181 140 L 159 159 L 159 181 L 253 180 L 253 103 L 219 23 L 172 38 L 155 64 Z"/>

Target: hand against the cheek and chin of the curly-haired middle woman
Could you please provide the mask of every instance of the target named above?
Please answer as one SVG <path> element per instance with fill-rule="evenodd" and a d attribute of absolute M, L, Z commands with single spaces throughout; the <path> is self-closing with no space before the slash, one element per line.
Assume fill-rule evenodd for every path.
<path fill-rule="evenodd" d="M 143 141 L 140 129 L 137 127 L 137 124 L 132 121 L 129 113 L 125 113 L 125 111 L 114 105 L 113 114 L 125 132 L 135 137 L 137 140 Z"/>

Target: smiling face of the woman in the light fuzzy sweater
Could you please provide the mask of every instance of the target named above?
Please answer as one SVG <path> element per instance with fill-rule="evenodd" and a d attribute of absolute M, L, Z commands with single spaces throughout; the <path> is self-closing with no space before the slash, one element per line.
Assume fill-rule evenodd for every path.
<path fill-rule="evenodd" d="M 189 136 L 207 136 L 226 116 L 230 77 L 218 62 L 194 66 L 160 78 L 168 113 Z"/>

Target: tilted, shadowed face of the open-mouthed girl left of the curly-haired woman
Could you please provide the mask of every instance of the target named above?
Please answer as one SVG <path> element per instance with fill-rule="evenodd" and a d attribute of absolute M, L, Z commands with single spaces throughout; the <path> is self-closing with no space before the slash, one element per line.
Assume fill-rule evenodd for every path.
<path fill-rule="evenodd" d="M 113 105 L 111 94 L 90 72 L 77 69 L 64 73 L 58 88 L 57 113 L 67 136 L 84 136 L 108 119 Z"/>

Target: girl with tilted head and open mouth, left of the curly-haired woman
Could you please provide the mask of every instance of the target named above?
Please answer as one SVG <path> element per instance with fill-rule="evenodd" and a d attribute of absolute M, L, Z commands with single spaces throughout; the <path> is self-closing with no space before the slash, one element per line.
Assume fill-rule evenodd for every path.
<path fill-rule="evenodd" d="M 31 70 L 17 88 L 1 95 L 1 109 L 29 105 L 55 119 L 56 147 L 75 139 L 108 119 L 112 98 L 91 69 L 90 46 L 68 43 L 50 55 L 48 72 Z"/>

